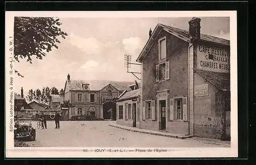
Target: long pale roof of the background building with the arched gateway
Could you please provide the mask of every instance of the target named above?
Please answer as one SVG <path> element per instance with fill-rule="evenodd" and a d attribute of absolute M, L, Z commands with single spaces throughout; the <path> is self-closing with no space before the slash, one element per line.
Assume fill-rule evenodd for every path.
<path fill-rule="evenodd" d="M 67 80 L 67 85 L 69 86 L 69 90 L 83 90 L 82 84 L 90 84 L 90 90 L 101 90 L 105 86 L 111 84 L 119 91 L 123 90 L 131 90 L 129 85 L 134 84 L 134 82 L 126 82 L 126 81 L 108 81 L 108 80 Z"/>

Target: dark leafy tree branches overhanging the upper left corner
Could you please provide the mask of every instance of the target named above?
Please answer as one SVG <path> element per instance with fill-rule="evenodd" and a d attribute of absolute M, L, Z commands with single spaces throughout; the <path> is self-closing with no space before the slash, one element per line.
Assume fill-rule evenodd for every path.
<path fill-rule="evenodd" d="M 31 57 L 42 59 L 52 48 L 58 49 L 58 37 L 68 34 L 60 29 L 61 23 L 53 17 L 14 17 L 14 59 Z"/>

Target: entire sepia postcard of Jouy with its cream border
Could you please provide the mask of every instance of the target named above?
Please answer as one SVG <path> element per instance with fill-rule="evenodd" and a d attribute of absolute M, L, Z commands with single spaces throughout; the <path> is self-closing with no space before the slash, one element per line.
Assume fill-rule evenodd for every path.
<path fill-rule="evenodd" d="M 6 152 L 237 156 L 236 12 L 149 13 L 6 12 Z"/>

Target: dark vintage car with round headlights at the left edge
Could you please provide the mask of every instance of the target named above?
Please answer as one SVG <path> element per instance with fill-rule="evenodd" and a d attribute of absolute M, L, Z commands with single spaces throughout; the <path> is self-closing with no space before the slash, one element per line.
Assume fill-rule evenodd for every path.
<path fill-rule="evenodd" d="M 14 139 L 29 138 L 31 141 L 35 140 L 36 129 L 33 128 L 30 118 L 15 119 Z"/>

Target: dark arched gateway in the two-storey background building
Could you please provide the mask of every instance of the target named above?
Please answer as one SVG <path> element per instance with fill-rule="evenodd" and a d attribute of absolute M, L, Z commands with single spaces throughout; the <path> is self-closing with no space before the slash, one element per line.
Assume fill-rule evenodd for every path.
<path fill-rule="evenodd" d="M 116 103 L 108 101 L 103 103 L 103 118 L 105 120 L 116 120 Z"/>

